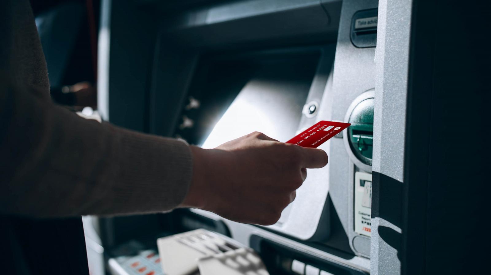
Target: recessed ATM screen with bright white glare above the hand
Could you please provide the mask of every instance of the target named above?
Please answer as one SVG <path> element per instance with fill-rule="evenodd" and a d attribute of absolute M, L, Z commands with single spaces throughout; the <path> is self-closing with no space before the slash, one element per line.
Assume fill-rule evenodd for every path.
<path fill-rule="evenodd" d="M 297 51 L 203 58 L 177 136 L 204 148 L 254 131 L 279 141 L 292 138 L 319 57 L 318 51 Z M 191 108 L 190 100 L 199 107 Z"/>

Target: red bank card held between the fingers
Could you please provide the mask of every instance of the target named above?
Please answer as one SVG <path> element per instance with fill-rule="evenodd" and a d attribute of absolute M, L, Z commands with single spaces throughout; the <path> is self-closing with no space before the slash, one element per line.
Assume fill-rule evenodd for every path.
<path fill-rule="evenodd" d="M 286 143 L 297 144 L 302 147 L 317 148 L 322 143 L 341 133 L 351 123 L 322 120 L 307 128 Z"/>

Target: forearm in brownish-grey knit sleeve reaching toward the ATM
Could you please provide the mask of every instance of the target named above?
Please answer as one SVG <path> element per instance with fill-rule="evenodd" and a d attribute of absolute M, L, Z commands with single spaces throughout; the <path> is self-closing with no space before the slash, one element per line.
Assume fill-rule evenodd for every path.
<path fill-rule="evenodd" d="M 184 199 L 192 174 L 187 144 L 85 120 L 26 90 L 1 89 L 1 212 L 156 212 Z"/>

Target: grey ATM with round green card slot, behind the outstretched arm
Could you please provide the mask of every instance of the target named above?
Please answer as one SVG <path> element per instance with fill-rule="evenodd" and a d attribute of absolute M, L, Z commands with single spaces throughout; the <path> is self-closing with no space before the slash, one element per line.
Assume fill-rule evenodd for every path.
<path fill-rule="evenodd" d="M 107 265 L 154 249 L 159 236 L 204 228 L 257 251 L 271 274 L 417 270 L 401 266 L 394 240 L 407 242 L 402 221 L 418 211 L 403 198 L 421 199 L 402 185 L 410 23 L 421 8 L 402 0 L 103 0 L 103 119 L 206 148 L 252 131 L 286 141 L 319 120 L 352 126 L 321 145 L 328 165 L 308 171 L 272 226 L 199 209 L 92 219 L 85 226 L 104 249 L 89 256 L 100 253 Z M 108 269 L 125 272 L 115 261 Z"/>

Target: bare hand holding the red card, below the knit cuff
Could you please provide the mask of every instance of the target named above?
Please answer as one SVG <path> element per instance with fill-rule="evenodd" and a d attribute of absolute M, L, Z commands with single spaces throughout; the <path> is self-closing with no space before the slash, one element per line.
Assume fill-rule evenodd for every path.
<path fill-rule="evenodd" d="M 306 168 L 327 164 L 323 150 L 279 142 L 258 132 L 215 149 L 191 150 L 192 182 L 181 206 L 260 225 L 278 221 L 307 177 Z"/>

